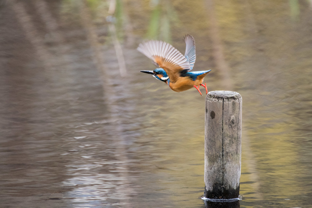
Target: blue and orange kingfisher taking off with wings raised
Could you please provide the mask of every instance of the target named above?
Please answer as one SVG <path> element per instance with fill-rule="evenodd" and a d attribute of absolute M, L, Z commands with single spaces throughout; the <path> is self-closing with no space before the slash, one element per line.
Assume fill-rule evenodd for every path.
<path fill-rule="evenodd" d="M 195 64 L 195 39 L 192 35 L 184 37 L 186 49 L 183 55 L 169 43 L 161 40 L 149 40 L 139 44 L 137 50 L 152 59 L 158 67 L 153 71 L 140 71 L 152 74 L 154 78 L 168 84 L 175 92 L 182 92 L 195 87 L 200 95 L 199 86 L 203 86 L 208 93 L 206 83 L 203 84 L 204 77 L 211 70 L 190 72 Z"/>

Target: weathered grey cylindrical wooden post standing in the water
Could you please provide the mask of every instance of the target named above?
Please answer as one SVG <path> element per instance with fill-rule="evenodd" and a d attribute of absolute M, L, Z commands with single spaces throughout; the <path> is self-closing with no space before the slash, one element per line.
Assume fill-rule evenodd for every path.
<path fill-rule="evenodd" d="M 237 92 L 206 96 L 205 192 L 207 199 L 238 199 L 241 177 L 241 110 Z"/>

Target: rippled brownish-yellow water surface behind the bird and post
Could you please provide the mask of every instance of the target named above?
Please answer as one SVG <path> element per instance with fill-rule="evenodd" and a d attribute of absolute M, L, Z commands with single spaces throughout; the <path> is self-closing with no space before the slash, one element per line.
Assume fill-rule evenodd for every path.
<path fill-rule="evenodd" d="M 117 1 L 115 28 L 106 1 L 0 1 L 1 207 L 205 206 L 204 97 L 139 73 L 153 18 L 243 97 L 240 206 L 312 206 L 309 1 L 210 2 Z"/>

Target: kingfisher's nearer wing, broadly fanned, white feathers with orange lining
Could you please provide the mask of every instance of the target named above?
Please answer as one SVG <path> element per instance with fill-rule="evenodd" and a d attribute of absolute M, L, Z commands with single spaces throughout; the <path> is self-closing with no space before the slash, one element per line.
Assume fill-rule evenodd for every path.
<path fill-rule="evenodd" d="M 180 71 L 191 70 L 187 58 L 172 45 L 161 40 L 140 43 L 137 50 L 152 59 L 156 66 L 163 68 L 173 82 Z"/>

